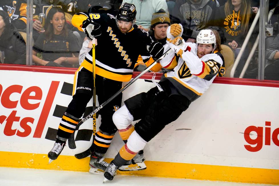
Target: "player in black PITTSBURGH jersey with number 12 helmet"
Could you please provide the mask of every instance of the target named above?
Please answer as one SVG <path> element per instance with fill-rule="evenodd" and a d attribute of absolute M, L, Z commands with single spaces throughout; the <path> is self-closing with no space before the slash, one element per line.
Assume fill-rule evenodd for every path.
<path fill-rule="evenodd" d="M 132 78 L 133 68 L 139 55 L 148 66 L 154 61 L 153 59 L 159 58 L 163 54 L 163 47 L 157 46 L 150 53 L 146 50 L 146 45 L 151 44 L 151 39 L 148 33 L 133 27 L 135 17 L 136 8 L 129 3 L 124 3 L 120 7 L 116 17 L 108 13 L 78 13 L 73 16 L 72 24 L 75 27 L 83 30 L 90 39 L 94 37 L 98 39 L 95 49 L 95 82 L 100 104 L 120 90 L 123 81 L 129 81 Z M 155 68 L 156 66 L 153 67 L 154 71 L 156 71 Z M 81 118 L 86 104 L 92 98 L 92 82 L 91 50 L 86 54 L 84 61 L 75 73 L 73 99 L 62 117 L 54 146 L 48 153 L 50 161 L 58 157 L 66 140 L 76 129 L 78 119 Z M 94 151 L 90 157 L 90 167 L 94 171 L 105 170 L 108 166 L 108 163 L 104 161 L 104 154 L 110 147 L 114 133 L 117 131 L 112 121 L 112 115 L 121 106 L 121 103 L 122 94 L 98 112 L 102 116 L 101 125 L 99 131 L 96 132 L 92 147 Z M 122 138 L 124 142 L 127 140 L 126 138 L 128 139 L 128 136 L 124 135 Z M 140 153 L 138 157 L 143 160 L 143 155 Z"/>

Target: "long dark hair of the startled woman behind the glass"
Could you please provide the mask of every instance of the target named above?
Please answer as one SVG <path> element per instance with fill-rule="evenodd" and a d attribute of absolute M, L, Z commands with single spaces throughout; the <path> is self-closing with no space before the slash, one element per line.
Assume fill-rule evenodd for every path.
<path fill-rule="evenodd" d="M 50 20 L 52 20 L 53 18 L 53 15 L 56 13 L 56 12 L 61 12 L 64 14 L 64 25 L 63 25 L 63 29 L 62 29 L 62 33 L 61 35 L 63 35 L 65 38 L 68 37 L 68 30 L 67 30 L 67 26 L 66 26 L 66 17 L 65 17 L 65 12 L 60 8 L 60 7 L 52 7 L 48 14 L 47 14 L 47 18 L 46 18 L 46 25 L 45 25 L 45 28 L 46 28 L 46 40 L 47 41 L 50 41 L 52 38 L 53 38 L 53 25 L 52 23 L 50 23 Z"/>

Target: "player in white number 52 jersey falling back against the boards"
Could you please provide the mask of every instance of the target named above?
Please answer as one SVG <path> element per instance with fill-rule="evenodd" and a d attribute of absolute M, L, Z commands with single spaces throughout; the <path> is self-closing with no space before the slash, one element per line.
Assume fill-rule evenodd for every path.
<path fill-rule="evenodd" d="M 173 71 L 165 73 L 157 86 L 148 92 L 126 100 L 125 105 L 113 115 L 118 130 L 128 131 L 130 136 L 110 162 L 104 173 L 104 181 L 112 180 L 118 167 L 132 159 L 148 141 L 199 98 L 209 88 L 223 64 L 221 57 L 214 53 L 216 38 L 211 30 L 201 30 L 195 44 L 185 43 L 179 37 L 183 32 L 179 28 L 180 24 L 168 28 L 169 42 L 165 50 L 170 47 L 173 52 L 160 61 L 161 66 Z M 183 41 L 181 44 L 180 40 Z M 131 122 L 139 119 L 134 130 L 130 131 Z"/>

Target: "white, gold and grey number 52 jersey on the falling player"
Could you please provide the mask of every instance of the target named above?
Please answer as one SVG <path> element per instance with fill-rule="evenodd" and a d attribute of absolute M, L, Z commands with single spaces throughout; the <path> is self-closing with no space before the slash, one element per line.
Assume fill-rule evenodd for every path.
<path fill-rule="evenodd" d="M 163 68 L 173 69 L 162 77 L 161 81 L 169 80 L 177 91 L 194 101 L 201 96 L 217 76 L 223 60 L 217 54 L 206 54 L 202 58 L 197 56 L 197 45 L 186 43 L 187 51 L 182 58 L 171 52 L 160 61 Z M 165 45 L 165 50 L 168 45 Z"/>

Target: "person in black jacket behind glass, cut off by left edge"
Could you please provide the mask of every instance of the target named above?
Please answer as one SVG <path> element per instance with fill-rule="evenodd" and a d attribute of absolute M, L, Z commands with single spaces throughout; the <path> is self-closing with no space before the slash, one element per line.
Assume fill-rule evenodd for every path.
<path fill-rule="evenodd" d="M 26 64 L 25 41 L 10 24 L 9 15 L 3 10 L 0 10 L 0 62 Z"/>

